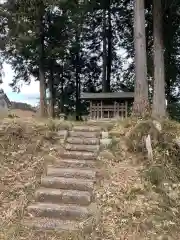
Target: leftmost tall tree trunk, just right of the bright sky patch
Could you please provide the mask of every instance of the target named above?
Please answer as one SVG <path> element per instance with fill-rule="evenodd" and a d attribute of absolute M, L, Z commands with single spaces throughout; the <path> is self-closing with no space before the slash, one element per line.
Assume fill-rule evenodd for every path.
<path fill-rule="evenodd" d="M 39 83 L 40 83 L 40 116 L 47 116 L 47 104 L 46 104 L 46 83 L 44 74 L 44 24 L 43 24 L 44 11 L 40 11 L 39 21 Z"/>

